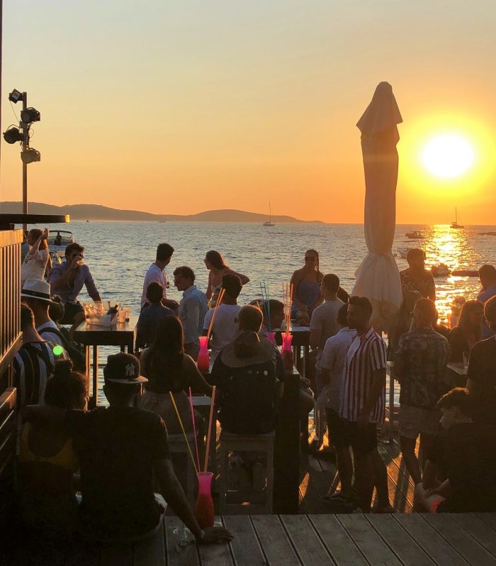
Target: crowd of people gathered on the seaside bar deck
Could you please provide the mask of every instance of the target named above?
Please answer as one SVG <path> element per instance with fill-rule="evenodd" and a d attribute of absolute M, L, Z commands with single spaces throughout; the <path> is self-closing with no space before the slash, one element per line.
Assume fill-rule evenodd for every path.
<path fill-rule="evenodd" d="M 285 305 L 259 298 L 238 304 L 249 277 L 215 250 L 205 255 L 205 293 L 191 267 L 174 269 L 178 303 L 167 296 L 165 271 L 174 248 L 159 244 L 142 288 L 136 338 L 142 351 L 108 357 L 103 391 L 109 406 L 86 411 L 84 356 L 63 325 L 84 320 L 78 301 L 84 285 L 95 301 L 100 294 L 78 243 L 67 246 L 65 261 L 49 268 L 45 281 L 46 238 L 46 231 L 28 236 L 23 345 L 14 362 L 24 421 L 18 434 L 23 520 L 52 532 L 135 536 L 157 524 L 165 499 L 198 542 L 230 540 L 223 528 L 198 526 L 171 465 L 167 431 L 181 432 L 176 405 L 191 433 L 188 392 L 210 395 L 213 385 L 222 430 L 274 431 L 293 359 L 281 355 L 268 333 L 281 327 Z M 409 267 L 400 272 L 402 305 L 390 327 L 379 329 L 388 331 L 388 349 L 372 326 L 371 301 L 349 296 L 337 275 L 323 274 L 316 250 L 307 250 L 304 267 L 291 277 L 291 318 L 309 327 L 312 348 L 311 379 L 300 379 L 300 415 L 303 420 L 315 406 L 312 448 L 322 452 L 327 429 L 341 482 L 325 496 L 329 512 L 393 511 L 378 451 L 388 360 L 400 384 L 400 449 L 416 485 L 416 509 L 496 510 L 496 269 L 480 268 L 482 290 L 463 304 L 450 330 L 439 326 L 424 259 L 422 250 L 409 250 Z M 208 379 L 196 365 L 204 335 L 211 349 Z M 454 387 L 447 364 L 464 359 L 466 383 Z M 199 414 L 194 418 L 203 438 L 205 423 Z"/>

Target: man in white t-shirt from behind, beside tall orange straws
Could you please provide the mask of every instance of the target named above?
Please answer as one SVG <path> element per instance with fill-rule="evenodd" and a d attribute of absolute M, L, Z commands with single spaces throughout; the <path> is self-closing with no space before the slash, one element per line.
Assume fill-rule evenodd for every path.
<path fill-rule="evenodd" d="M 237 275 L 227 274 L 222 277 L 222 289 L 225 289 L 225 292 L 222 304 L 218 306 L 217 313 L 215 314 L 215 320 L 210 333 L 210 347 L 212 348 L 210 363 L 212 364 L 222 348 L 234 342 L 237 336 L 237 313 L 241 310 L 241 306 L 237 304 L 237 297 L 241 292 L 241 288 L 241 279 Z M 210 309 L 205 314 L 205 320 L 203 321 L 204 336 L 207 335 L 214 310 Z"/>

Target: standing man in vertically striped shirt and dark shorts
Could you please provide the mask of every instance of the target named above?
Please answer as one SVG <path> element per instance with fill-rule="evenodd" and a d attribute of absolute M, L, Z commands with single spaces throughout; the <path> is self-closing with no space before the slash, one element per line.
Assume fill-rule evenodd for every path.
<path fill-rule="evenodd" d="M 357 336 L 346 354 L 340 411 L 354 455 L 354 489 L 364 512 L 371 509 L 374 479 L 378 492 L 376 511 L 389 509 L 388 473 L 377 450 L 376 431 L 378 423 L 384 421 L 386 349 L 371 327 L 371 315 L 372 305 L 366 297 L 351 297 L 348 325 Z"/>

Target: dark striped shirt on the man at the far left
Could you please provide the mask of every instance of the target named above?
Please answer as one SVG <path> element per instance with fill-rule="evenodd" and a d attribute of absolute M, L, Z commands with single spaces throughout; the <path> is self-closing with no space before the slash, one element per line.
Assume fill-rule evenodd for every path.
<path fill-rule="evenodd" d="M 53 348 L 54 344 L 50 342 L 28 342 L 14 357 L 14 387 L 18 390 L 19 408 L 43 403 L 47 380 L 52 376 L 55 362 L 69 360 L 65 350 L 61 355 L 55 355 Z M 38 350 L 40 355 L 34 350 Z M 47 367 L 45 360 L 50 362 L 51 367 Z"/>

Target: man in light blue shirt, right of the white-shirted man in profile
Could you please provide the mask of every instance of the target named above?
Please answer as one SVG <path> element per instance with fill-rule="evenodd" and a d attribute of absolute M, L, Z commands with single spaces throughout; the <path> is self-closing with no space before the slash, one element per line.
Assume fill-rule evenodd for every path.
<path fill-rule="evenodd" d="M 179 318 L 183 324 L 184 351 L 193 360 L 198 357 L 200 341 L 198 336 L 203 331 L 203 319 L 207 312 L 207 299 L 194 284 L 195 274 L 191 267 L 183 265 L 174 270 L 174 285 L 183 292 L 179 303 Z"/>

